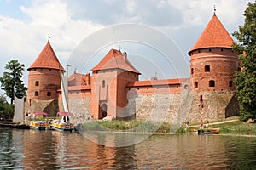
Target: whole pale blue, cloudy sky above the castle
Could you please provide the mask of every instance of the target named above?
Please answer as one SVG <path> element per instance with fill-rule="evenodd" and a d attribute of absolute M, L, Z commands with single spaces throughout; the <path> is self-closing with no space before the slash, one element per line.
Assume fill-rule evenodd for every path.
<path fill-rule="evenodd" d="M 188 77 L 179 72 L 188 70 L 188 51 L 212 18 L 213 7 L 231 35 L 243 25 L 248 2 L 253 0 L 0 0 L 0 76 L 12 59 L 27 69 L 49 40 L 61 65 L 72 63 L 70 72 L 88 72 L 113 46 L 128 53 L 146 75 L 142 79 L 173 78 L 163 74 L 170 66 L 177 77 Z M 90 53 L 82 53 L 84 48 Z M 175 68 L 178 59 L 188 61 L 180 64 L 186 69 Z M 28 71 L 23 75 L 27 85 Z"/>

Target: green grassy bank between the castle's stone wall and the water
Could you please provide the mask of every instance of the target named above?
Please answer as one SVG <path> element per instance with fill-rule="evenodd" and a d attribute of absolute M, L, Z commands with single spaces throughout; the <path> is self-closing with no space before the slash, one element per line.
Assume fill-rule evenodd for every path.
<path fill-rule="evenodd" d="M 85 122 L 83 124 L 85 130 L 95 131 L 127 131 L 138 133 L 190 133 L 192 129 L 198 127 L 189 127 L 189 129 L 179 127 L 179 125 L 168 122 L 155 123 L 143 122 L 138 120 L 132 121 L 94 121 Z M 220 128 L 222 134 L 243 134 L 256 135 L 256 123 L 244 123 L 240 121 L 226 122 L 223 124 L 215 124 L 209 128 Z"/>

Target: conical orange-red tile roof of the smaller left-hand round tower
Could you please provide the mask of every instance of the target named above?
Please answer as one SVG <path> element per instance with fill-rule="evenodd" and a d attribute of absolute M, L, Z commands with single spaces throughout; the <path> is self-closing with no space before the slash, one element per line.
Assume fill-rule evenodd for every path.
<path fill-rule="evenodd" d="M 37 59 L 32 63 L 32 65 L 30 65 L 27 70 L 33 68 L 60 69 L 61 71 L 64 71 L 64 68 L 57 59 L 55 52 L 49 42 L 47 42 L 41 53 L 38 55 Z"/>

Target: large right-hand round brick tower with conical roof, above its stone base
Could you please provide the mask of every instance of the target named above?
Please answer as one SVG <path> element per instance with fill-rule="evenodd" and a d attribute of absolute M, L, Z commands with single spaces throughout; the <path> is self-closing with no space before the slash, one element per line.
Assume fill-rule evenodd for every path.
<path fill-rule="evenodd" d="M 201 37 L 189 50 L 194 92 L 235 89 L 234 73 L 239 68 L 234 41 L 214 13 Z"/>

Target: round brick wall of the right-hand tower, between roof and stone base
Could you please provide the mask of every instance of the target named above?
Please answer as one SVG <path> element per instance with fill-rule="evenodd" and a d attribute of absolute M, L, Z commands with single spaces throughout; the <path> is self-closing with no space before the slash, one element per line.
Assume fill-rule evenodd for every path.
<path fill-rule="evenodd" d="M 231 48 L 195 50 L 191 53 L 190 60 L 194 91 L 235 90 L 234 74 L 238 67 L 239 59 Z"/>

